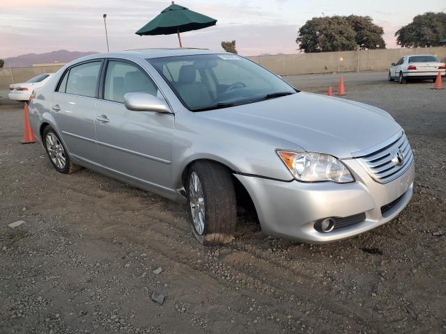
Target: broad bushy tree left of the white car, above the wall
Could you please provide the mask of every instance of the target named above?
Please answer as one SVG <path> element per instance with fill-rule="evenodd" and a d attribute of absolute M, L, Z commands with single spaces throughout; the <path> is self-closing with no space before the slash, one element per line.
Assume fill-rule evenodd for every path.
<path fill-rule="evenodd" d="M 313 17 L 298 31 L 296 42 L 305 52 L 385 48 L 383 28 L 368 16 Z"/>

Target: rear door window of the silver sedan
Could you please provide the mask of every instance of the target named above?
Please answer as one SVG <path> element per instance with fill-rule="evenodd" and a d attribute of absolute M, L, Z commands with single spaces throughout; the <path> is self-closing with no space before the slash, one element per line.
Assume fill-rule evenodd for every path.
<path fill-rule="evenodd" d="M 95 61 L 71 67 L 66 82 L 66 93 L 95 97 L 100 63 Z"/>

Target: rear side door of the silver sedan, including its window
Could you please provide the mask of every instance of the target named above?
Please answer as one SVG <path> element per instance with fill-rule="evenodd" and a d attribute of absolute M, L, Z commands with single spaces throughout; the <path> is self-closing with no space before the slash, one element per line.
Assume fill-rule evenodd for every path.
<path fill-rule="evenodd" d="M 103 60 L 95 59 L 70 67 L 54 92 L 52 116 L 72 157 L 98 165 L 95 109 Z"/>

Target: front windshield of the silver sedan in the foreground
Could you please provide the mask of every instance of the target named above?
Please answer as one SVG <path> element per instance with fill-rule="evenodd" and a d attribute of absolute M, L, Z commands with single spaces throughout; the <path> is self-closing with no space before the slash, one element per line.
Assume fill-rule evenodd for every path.
<path fill-rule="evenodd" d="M 147 59 L 191 111 L 268 100 L 298 92 L 263 67 L 235 54 Z"/>

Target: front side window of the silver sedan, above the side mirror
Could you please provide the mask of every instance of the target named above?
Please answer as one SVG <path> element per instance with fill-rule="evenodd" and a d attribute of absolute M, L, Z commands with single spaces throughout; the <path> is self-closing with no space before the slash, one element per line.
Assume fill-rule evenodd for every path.
<path fill-rule="evenodd" d="M 139 67 L 121 61 L 109 61 L 105 74 L 104 99 L 124 102 L 124 95 L 132 92 L 156 96 L 157 87 Z"/>

